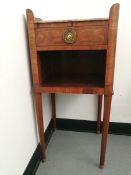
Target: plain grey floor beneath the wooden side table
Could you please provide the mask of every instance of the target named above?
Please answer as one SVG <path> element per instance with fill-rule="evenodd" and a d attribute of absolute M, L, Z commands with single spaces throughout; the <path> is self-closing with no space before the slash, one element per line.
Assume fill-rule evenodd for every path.
<path fill-rule="evenodd" d="M 101 134 L 56 130 L 36 175 L 131 175 L 131 137 L 109 135 L 99 169 Z"/>

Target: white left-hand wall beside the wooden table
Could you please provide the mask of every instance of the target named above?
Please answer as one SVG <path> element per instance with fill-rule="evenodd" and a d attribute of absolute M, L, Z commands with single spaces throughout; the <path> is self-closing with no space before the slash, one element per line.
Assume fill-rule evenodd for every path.
<path fill-rule="evenodd" d="M 22 0 L 0 5 L 0 175 L 22 175 L 39 143 L 26 39 L 28 6 Z M 44 100 L 46 129 L 48 95 Z"/>

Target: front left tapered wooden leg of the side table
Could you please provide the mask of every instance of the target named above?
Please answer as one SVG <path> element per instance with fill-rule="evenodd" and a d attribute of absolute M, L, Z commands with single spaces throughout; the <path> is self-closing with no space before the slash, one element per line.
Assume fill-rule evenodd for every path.
<path fill-rule="evenodd" d="M 35 103 L 36 103 L 36 114 L 37 114 L 37 123 L 39 130 L 39 138 L 41 145 L 42 161 L 45 161 L 45 138 L 44 138 L 44 123 L 43 123 L 43 110 L 42 110 L 42 94 L 35 93 Z"/>

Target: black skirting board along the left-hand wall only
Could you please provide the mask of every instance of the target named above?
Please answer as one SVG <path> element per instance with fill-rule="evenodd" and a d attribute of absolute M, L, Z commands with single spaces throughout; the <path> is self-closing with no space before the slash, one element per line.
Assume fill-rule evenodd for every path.
<path fill-rule="evenodd" d="M 53 121 L 51 120 L 46 131 L 45 131 L 46 147 L 50 141 L 52 133 L 53 133 Z M 23 175 L 35 175 L 35 173 L 39 167 L 40 162 L 41 162 L 41 148 L 40 148 L 40 144 L 38 144 L 37 148 L 34 151 L 34 154 L 31 158 L 31 160 L 29 161 L 29 163 L 26 167 L 26 170 L 23 173 Z"/>

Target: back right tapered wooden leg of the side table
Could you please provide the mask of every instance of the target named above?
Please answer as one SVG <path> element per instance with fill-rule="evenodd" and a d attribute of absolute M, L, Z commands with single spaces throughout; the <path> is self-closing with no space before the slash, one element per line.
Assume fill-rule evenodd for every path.
<path fill-rule="evenodd" d="M 100 133 L 101 128 L 101 111 L 102 111 L 102 95 L 98 96 L 98 113 L 97 113 L 97 128 L 96 133 Z"/>

